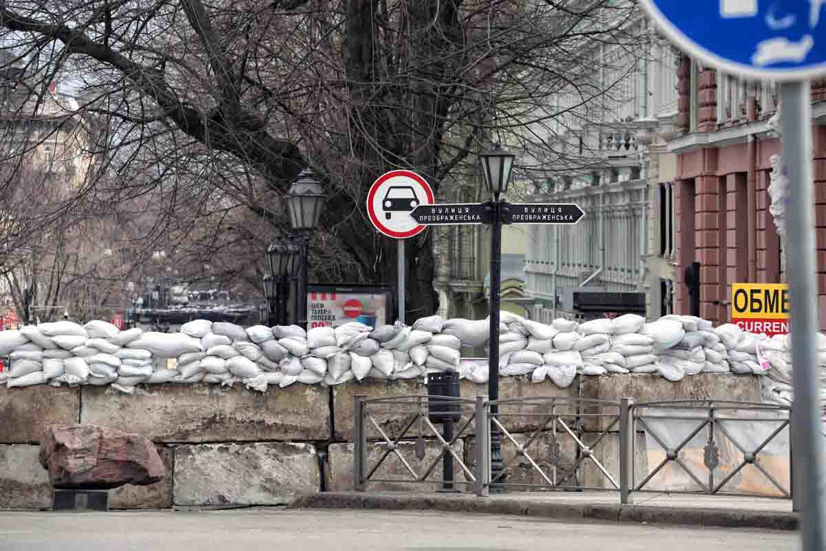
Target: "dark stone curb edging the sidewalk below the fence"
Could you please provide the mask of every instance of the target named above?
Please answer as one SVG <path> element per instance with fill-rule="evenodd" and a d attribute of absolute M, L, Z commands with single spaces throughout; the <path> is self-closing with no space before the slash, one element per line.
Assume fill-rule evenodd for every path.
<path fill-rule="evenodd" d="M 554 503 L 475 496 L 382 496 L 320 492 L 301 496 L 289 509 L 381 509 L 521 515 L 554 520 L 600 520 L 658 525 L 714 526 L 757 530 L 798 530 L 798 514 L 785 511 L 671 506 Z"/>

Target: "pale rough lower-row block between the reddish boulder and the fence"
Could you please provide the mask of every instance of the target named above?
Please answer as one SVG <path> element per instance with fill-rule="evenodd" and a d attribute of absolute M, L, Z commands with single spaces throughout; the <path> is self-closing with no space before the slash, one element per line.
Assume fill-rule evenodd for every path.
<path fill-rule="evenodd" d="M 320 491 L 311 444 L 197 444 L 175 448 L 176 506 L 286 505 Z"/>

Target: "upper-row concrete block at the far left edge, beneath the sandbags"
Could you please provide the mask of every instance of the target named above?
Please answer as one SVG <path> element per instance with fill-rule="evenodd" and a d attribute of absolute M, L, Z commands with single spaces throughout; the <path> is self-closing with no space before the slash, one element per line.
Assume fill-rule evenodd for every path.
<path fill-rule="evenodd" d="M 0 386 L 0 444 L 39 443 L 48 425 L 76 425 L 79 387 Z"/>

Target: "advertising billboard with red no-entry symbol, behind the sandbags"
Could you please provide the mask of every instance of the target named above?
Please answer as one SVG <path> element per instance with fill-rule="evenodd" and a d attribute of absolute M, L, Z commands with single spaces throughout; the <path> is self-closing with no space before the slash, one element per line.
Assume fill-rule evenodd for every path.
<path fill-rule="evenodd" d="M 376 327 L 392 323 L 391 287 L 381 285 L 310 285 L 307 328 L 338 327 L 359 321 Z"/>

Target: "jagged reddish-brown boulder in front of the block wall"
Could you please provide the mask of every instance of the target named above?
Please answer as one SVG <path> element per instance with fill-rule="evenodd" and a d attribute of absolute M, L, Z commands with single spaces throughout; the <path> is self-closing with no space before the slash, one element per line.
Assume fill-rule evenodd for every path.
<path fill-rule="evenodd" d="M 47 427 L 40 442 L 40 464 L 58 488 L 146 486 L 166 473 L 149 440 L 102 426 Z"/>

